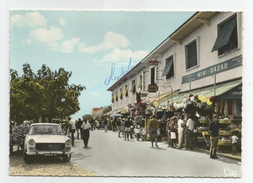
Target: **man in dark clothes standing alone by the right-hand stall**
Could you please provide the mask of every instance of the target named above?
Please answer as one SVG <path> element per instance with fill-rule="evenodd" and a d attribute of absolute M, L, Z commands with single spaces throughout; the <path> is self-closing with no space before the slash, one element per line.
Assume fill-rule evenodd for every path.
<path fill-rule="evenodd" d="M 209 124 L 209 135 L 210 135 L 210 158 L 212 159 L 218 159 L 216 155 L 217 147 L 218 147 L 218 140 L 219 140 L 219 119 L 218 115 L 213 115 L 213 121 Z"/>

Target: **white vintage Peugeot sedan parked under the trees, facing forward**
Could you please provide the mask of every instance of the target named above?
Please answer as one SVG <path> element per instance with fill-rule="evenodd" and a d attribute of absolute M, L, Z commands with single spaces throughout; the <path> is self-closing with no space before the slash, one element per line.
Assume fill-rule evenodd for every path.
<path fill-rule="evenodd" d="M 34 123 L 30 126 L 24 144 L 24 161 L 31 156 L 62 156 L 63 161 L 71 159 L 71 144 L 59 124 Z"/>

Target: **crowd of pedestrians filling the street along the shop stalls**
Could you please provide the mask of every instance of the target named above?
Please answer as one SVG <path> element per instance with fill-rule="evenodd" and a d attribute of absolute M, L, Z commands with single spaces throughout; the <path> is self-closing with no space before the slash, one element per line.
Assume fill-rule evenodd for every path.
<path fill-rule="evenodd" d="M 166 124 L 166 132 L 163 134 L 160 132 L 161 124 Z M 138 116 L 114 117 L 112 119 L 102 117 L 90 121 L 87 118 L 84 118 L 83 121 L 79 118 L 77 121 L 69 119 L 69 133 L 71 133 L 72 145 L 74 146 L 74 133 L 77 132 L 77 139 L 83 139 L 84 148 L 88 147 L 90 130 L 104 130 L 106 133 L 108 130 L 112 130 L 117 132 L 118 138 L 123 137 L 127 141 L 133 138 L 136 138 L 137 141 L 150 140 L 151 146 L 155 145 L 158 148 L 159 138 L 165 137 L 168 148 L 193 150 L 193 147 L 198 147 L 197 124 L 198 118 L 191 114 L 188 114 L 187 119 L 183 114 L 159 120 L 155 114 L 151 115 L 148 120 Z M 145 133 L 142 132 L 143 129 Z M 210 135 L 210 158 L 216 159 L 218 158 L 216 152 L 219 139 L 219 121 L 216 114 L 213 115 L 213 120 L 209 124 L 208 133 Z M 141 138 L 142 136 L 144 138 Z M 238 137 L 233 135 L 233 155 L 236 153 L 237 142 Z"/>

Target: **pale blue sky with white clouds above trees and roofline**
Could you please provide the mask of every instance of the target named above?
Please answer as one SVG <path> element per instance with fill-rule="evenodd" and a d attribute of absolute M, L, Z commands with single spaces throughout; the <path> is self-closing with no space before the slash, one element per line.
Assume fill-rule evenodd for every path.
<path fill-rule="evenodd" d="M 25 11 L 11 13 L 10 68 L 22 75 L 29 63 L 33 72 L 42 64 L 51 70 L 72 72 L 70 84 L 87 89 L 79 97 L 81 110 L 111 104 L 109 78 L 127 71 L 158 46 L 195 12 L 130 11 Z"/>

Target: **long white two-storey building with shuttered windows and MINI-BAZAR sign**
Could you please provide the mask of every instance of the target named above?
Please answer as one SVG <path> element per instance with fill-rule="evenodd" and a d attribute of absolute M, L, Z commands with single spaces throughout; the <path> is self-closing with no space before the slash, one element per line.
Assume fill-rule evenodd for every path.
<path fill-rule="evenodd" d="M 113 112 L 136 102 L 136 92 L 161 105 L 191 93 L 231 99 L 241 115 L 241 79 L 242 13 L 197 12 L 108 91 Z M 150 84 L 157 91 L 149 92 Z"/>

